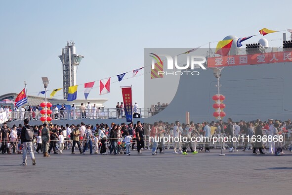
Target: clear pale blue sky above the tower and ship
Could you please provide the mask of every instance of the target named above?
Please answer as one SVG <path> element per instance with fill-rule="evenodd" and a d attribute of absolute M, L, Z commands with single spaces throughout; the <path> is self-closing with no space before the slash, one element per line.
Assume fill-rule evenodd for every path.
<path fill-rule="evenodd" d="M 48 90 L 62 88 L 58 55 L 68 40 L 85 56 L 77 72 L 77 84 L 83 84 L 142 67 L 144 48 L 196 48 L 227 35 L 292 28 L 290 12 L 285 11 L 291 5 L 289 0 L 1 1 L 0 72 L 9 83 L 0 86 L 0 94 L 19 93 L 26 81 L 28 93 L 36 96 L 43 90 L 42 76 L 50 79 Z M 278 47 L 282 37 L 274 33 L 264 38 L 276 40 L 270 46 Z M 143 76 L 113 83 L 107 95 L 99 96 L 95 88 L 88 98 L 109 98 L 105 106 L 114 107 L 122 101 L 120 86 L 128 85 L 133 86 L 133 100 L 142 105 Z M 56 94 L 62 97 L 62 91 Z M 83 92 L 78 98 L 84 98 Z"/>

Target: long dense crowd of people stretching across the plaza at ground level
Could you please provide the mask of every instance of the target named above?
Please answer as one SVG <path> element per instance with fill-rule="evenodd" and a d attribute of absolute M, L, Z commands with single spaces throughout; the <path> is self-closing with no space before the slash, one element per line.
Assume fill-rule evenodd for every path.
<path fill-rule="evenodd" d="M 214 122 L 202 122 L 194 123 L 191 121 L 189 124 L 180 124 L 179 121 L 175 123 L 167 123 L 163 121 L 155 122 L 154 124 L 141 124 L 129 123 L 129 124 L 115 124 L 110 126 L 107 124 L 85 125 L 83 122 L 77 125 L 59 126 L 57 124 L 43 123 L 42 125 L 35 125 L 31 127 L 29 120 L 24 120 L 24 126 L 19 124 L 18 126 L 12 126 L 9 128 L 6 123 L 3 124 L 0 130 L 1 147 L 0 151 L 4 153 L 23 153 L 23 164 L 27 164 L 26 155 L 30 153 L 33 163 L 35 164 L 34 152 L 43 153 L 44 157 L 48 157 L 50 153 L 58 154 L 63 153 L 63 149 L 71 149 L 71 153 L 75 154 L 76 147 L 81 154 L 85 154 L 89 150 L 89 154 L 113 154 L 119 155 L 125 153 L 130 155 L 132 150 L 136 150 L 138 154 L 142 154 L 142 150 L 152 148 L 152 155 L 159 153 L 163 154 L 165 149 L 173 147 L 174 154 L 181 153 L 187 154 L 187 148 L 190 148 L 192 154 L 198 153 L 198 151 L 210 151 L 208 142 L 190 142 L 194 137 L 209 137 L 214 135 L 225 136 L 239 136 L 240 134 L 249 136 L 263 136 L 263 135 L 284 135 L 284 139 L 291 139 L 289 136 L 292 133 L 291 120 L 280 121 L 268 119 L 268 121 L 238 121 L 233 122 L 231 118 L 228 118 L 227 122 L 222 120 Z M 186 141 L 173 141 L 173 145 L 170 143 L 164 143 L 158 138 L 162 137 L 185 137 Z M 145 146 L 144 139 L 152 137 L 152 142 Z M 258 138 L 258 137 L 257 137 Z M 20 141 L 20 142 L 19 142 Z M 245 140 L 245 151 L 250 140 Z M 286 143 L 286 146 L 282 146 L 282 142 L 269 142 L 269 152 L 275 155 L 282 155 L 283 147 L 287 147 L 291 143 Z M 77 145 L 77 146 L 76 146 Z M 233 142 L 228 142 L 229 152 L 236 151 Z M 265 154 L 265 150 L 261 140 L 260 142 L 254 142 L 252 144 L 252 153 L 257 154 L 259 150 L 260 154 Z M 198 151 L 197 151 L 198 148 Z M 109 151 L 107 152 L 107 149 Z M 289 147 L 292 150 L 292 147 Z M 11 152 L 12 151 L 12 152 Z"/>

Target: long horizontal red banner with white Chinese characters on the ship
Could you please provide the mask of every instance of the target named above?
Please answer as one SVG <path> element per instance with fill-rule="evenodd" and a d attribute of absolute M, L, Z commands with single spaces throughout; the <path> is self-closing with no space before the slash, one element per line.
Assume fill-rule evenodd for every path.
<path fill-rule="evenodd" d="M 208 58 L 208 68 L 280 62 L 292 62 L 292 51 L 210 57 Z"/>

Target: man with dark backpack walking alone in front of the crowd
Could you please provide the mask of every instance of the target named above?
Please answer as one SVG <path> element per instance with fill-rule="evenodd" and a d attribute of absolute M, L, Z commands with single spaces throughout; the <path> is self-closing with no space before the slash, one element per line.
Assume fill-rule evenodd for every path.
<path fill-rule="evenodd" d="M 33 149 L 34 130 L 28 124 L 29 120 L 27 118 L 24 119 L 23 123 L 24 126 L 22 127 L 20 136 L 20 143 L 23 145 L 22 165 L 27 165 L 27 152 L 29 152 L 30 154 L 33 165 L 36 165 L 36 159 Z"/>

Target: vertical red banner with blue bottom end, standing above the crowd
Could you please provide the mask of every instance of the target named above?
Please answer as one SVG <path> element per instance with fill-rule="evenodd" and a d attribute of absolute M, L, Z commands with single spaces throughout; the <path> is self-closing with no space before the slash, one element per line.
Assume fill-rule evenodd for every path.
<path fill-rule="evenodd" d="M 122 88 L 122 96 L 125 105 L 125 118 L 127 122 L 133 121 L 132 114 L 132 88 L 131 87 L 123 87 Z"/>

